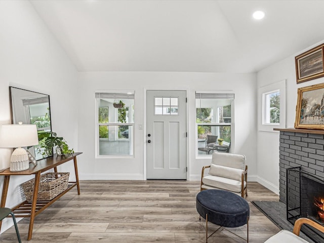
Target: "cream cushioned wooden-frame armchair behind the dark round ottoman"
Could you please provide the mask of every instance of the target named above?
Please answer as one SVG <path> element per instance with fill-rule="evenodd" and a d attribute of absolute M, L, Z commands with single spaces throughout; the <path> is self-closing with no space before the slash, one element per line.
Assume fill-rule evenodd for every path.
<path fill-rule="evenodd" d="M 205 170 L 209 168 L 209 174 Z M 214 152 L 212 164 L 201 171 L 200 191 L 205 189 L 223 189 L 248 196 L 248 166 L 242 154 Z"/>

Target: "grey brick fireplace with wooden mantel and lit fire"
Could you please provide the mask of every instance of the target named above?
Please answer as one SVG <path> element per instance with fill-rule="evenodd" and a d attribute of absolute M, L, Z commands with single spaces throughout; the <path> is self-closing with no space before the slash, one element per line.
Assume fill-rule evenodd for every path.
<path fill-rule="evenodd" d="M 288 221 L 307 217 L 324 225 L 324 131 L 275 130 L 280 131 L 279 200 L 287 205 Z M 302 231 L 315 242 L 324 240 L 320 232 Z"/>

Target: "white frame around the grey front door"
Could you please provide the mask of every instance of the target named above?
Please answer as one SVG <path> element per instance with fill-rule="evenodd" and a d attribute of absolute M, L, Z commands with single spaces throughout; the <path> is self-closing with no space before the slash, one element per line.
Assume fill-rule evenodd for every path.
<path fill-rule="evenodd" d="M 185 91 L 186 92 L 186 97 L 187 97 L 187 103 L 186 103 L 186 127 L 187 127 L 187 146 L 186 146 L 186 165 L 187 165 L 187 173 L 186 173 L 186 177 L 187 177 L 187 181 L 190 178 L 190 168 L 189 168 L 189 138 L 190 138 L 190 134 L 189 134 L 189 102 L 190 99 L 188 99 L 189 96 L 189 90 L 187 88 L 178 88 L 178 89 L 158 89 L 158 88 L 144 88 L 143 89 L 143 115 L 144 115 L 144 120 L 143 120 L 143 175 L 144 175 L 144 180 L 147 180 L 147 174 L 146 174 L 146 102 L 147 102 L 147 91 L 148 90 L 153 90 L 153 91 L 157 91 L 157 90 L 161 90 L 161 91 Z"/>

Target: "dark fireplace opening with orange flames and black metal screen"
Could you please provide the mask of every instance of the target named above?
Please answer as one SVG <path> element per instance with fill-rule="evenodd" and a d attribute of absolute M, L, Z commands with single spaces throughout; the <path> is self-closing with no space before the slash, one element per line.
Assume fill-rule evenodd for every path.
<path fill-rule="evenodd" d="M 324 181 L 304 172 L 301 167 L 287 169 L 287 220 L 309 218 L 324 226 Z M 302 226 L 302 232 L 315 242 L 324 242 L 324 234 L 313 227 Z"/>

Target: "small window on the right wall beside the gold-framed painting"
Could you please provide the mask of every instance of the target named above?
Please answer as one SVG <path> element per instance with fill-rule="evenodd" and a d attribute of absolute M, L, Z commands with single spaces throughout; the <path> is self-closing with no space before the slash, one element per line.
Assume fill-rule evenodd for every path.
<path fill-rule="evenodd" d="M 274 90 L 262 94 L 262 125 L 279 125 L 280 123 L 280 91 Z"/>

